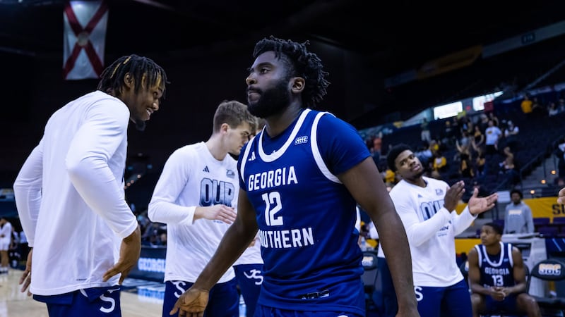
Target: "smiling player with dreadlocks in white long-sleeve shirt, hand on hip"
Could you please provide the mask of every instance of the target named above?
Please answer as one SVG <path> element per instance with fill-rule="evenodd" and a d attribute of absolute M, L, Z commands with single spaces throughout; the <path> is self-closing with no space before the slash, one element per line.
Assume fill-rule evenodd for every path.
<path fill-rule="evenodd" d="M 121 316 L 119 285 L 136 265 L 141 232 L 124 199 L 129 121 L 157 111 L 167 75 L 154 61 L 122 56 L 95 92 L 59 108 L 13 189 L 32 251 L 22 291 L 49 316 Z M 121 273 L 121 275 L 120 275 Z"/>

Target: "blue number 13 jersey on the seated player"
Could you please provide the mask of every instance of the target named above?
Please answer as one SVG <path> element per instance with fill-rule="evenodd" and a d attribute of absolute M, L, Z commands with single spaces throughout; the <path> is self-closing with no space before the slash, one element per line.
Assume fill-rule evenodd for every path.
<path fill-rule="evenodd" d="M 500 253 L 487 254 L 482 244 L 475 245 L 479 256 L 480 282 L 483 287 L 516 285 L 513 275 L 512 244 L 500 242 Z"/>

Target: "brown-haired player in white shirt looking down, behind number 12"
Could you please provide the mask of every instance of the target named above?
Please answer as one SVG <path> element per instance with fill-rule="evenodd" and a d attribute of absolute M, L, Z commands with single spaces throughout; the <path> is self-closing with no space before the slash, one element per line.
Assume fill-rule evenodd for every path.
<path fill-rule="evenodd" d="M 229 154 L 239 155 L 255 123 L 246 105 L 223 101 L 210 139 L 177 149 L 165 163 L 148 209 L 151 221 L 167 224 L 164 317 L 196 281 L 235 220 L 239 179 L 237 161 Z M 210 290 L 204 316 L 237 316 L 238 305 L 230 268 Z"/>

